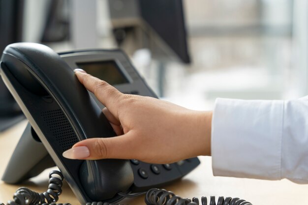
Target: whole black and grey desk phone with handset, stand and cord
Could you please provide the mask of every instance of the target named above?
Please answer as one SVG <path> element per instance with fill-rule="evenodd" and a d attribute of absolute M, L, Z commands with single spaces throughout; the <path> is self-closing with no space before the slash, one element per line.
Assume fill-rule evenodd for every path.
<path fill-rule="evenodd" d="M 101 112 L 103 105 L 79 83 L 74 75 L 75 68 L 84 69 L 124 93 L 157 98 L 121 50 L 57 54 L 49 47 L 35 43 L 7 46 L 0 60 L 1 77 L 29 124 L 2 180 L 15 184 L 38 175 L 48 167 L 56 165 L 60 169 L 60 172 L 50 174 L 46 192 L 39 194 L 21 188 L 15 193 L 14 201 L 8 204 L 56 203 L 65 178 L 83 205 L 109 205 L 124 197 L 145 193 L 146 204 L 196 205 L 197 199 L 182 199 L 172 192 L 154 187 L 185 176 L 199 165 L 198 158 L 173 164 L 148 164 L 135 159 L 71 160 L 62 157 L 62 152 L 78 141 L 92 137 L 116 137 Z M 203 205 L 207 204 L 205 200 L 202 199 Z M 220 202 L 223 201 L 226 205 L 240 202 L 238 198 L 220 198 Z"/>

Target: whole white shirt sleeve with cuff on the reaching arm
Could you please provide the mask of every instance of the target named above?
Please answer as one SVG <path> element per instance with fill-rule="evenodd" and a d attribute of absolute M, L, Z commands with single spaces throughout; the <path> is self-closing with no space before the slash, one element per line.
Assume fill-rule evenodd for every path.
<path fill-rule="evenodd" d="M 308 183 L 308 97 L 218 98 L 211 144 L 215 176 Z"/>

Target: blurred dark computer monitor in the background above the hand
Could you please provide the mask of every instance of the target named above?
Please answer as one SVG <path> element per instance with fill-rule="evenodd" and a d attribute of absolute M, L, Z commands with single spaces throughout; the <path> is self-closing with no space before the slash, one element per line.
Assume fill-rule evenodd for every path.
<path fill-rule="evenodd" d="M 144 47 L 158 59 L 190 62 L 182 0 L 109 0 L 109 8 L 120 47 L 131 41 L 130 50 Z"/>

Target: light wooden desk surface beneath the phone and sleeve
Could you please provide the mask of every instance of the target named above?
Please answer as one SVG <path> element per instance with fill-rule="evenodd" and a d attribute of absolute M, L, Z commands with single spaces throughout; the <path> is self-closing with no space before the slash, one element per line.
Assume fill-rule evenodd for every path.
<path fill-rule="evenodd" d="M 9 130 L 0 133 L 0 176 L 27 124 L 23 121 Z M 169 186 L 164 187 L 182 197 L 193 196 L 231 196 L 239 197 L 253 205 L 308 205 L 308 185 L 300 185 L 288 180 L 266 181 L 257 179 L 232 178 L 213 176 L 210 157 L 200 157 L 201 165 L 192 173 Z M 20 168 L 22 169 L 22 167 Z M 46 191 L 48 173 L 34 177 L 31 181 L 19 185 L 9 185 L 0 181 L 0 202 L 6 203 L 12 199 L 15 190 L 27 186 L 35 191 Z M 79 205 L 69 186 L 65 183 L 63 194 L 58 203 L 69 202 Z M 122 204 L 143 205 L 143 196 L 125 199 Z"/>

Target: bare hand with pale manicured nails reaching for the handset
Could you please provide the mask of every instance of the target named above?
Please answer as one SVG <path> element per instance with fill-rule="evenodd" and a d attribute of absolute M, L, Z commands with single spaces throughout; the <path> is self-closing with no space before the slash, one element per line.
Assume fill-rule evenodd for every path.
<path fill-rule="evenodd" d="M 80 141 L 65 151 L 64 157 L 163 164 L 211 154 L 211 111 L 193 111 L 152 97 L 123 94 L 85 71 L 75 73 L 106 107 L 102 112 L 118 137 Z"/>

